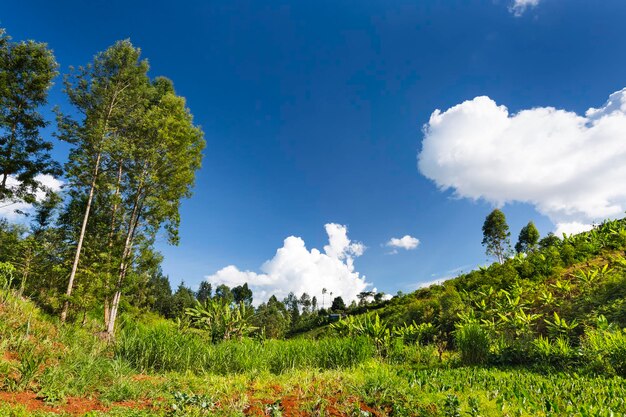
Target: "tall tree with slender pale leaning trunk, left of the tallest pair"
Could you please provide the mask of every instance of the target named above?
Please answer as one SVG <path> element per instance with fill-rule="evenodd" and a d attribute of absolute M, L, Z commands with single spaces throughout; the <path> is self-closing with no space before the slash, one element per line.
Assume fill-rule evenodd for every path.
<path fill-rule="evenodd" d="M 58 114 L 59 138 L 73 145 L 66 164 L 67 178 L 75 190 L 86 194 L 80 232 L 68 279 L 66 299 L 61 312 L 65 321 L 85 231 L 98 188 L 115 187 L 106 168 L 115 163 L 120 138 L 129 129 L 129 114 L 141 106 L 148 84 L 148 64 L 140 59 L 141 51 L 130 41 L 119 41 L 97 54 L 93 63 L 80 67 L 65 79 L 69 101 L 80 113 L 80 120 Z M 115 221 L 115 213 L 113 214 Z"/>

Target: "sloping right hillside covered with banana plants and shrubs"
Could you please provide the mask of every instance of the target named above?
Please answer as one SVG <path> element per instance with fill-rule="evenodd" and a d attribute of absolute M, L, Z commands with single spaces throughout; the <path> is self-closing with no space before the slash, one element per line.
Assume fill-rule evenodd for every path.
<path fill-rule="evenodd" d="M 626 220 L 561 239 L 549 235 L 529 253 L 394 297 L 349 316 L 343 326 L 309 334 L 319 337 L 333 327 L 358 334 L 346 326 L 362 327 L 379 317 L 391 333 L 413 327 L 422 343 L 435 342 L 442 349 L 458 348 L 462 329 L 474 327 L 488 338 L 489 354 L 482 361 L 494 364 L 577 366 L 592 342 L 603 345 L 597 349 L 615 345 L 620 353 L 614 355 L 622 357 L 626 346 L 617 341 L 626 340 L 620 330 L 626 327 L 625 255 Z M 599 330 L 610 335 L 594 333 Z M 623 364 L 594 366 L 626 375 Z"/>

